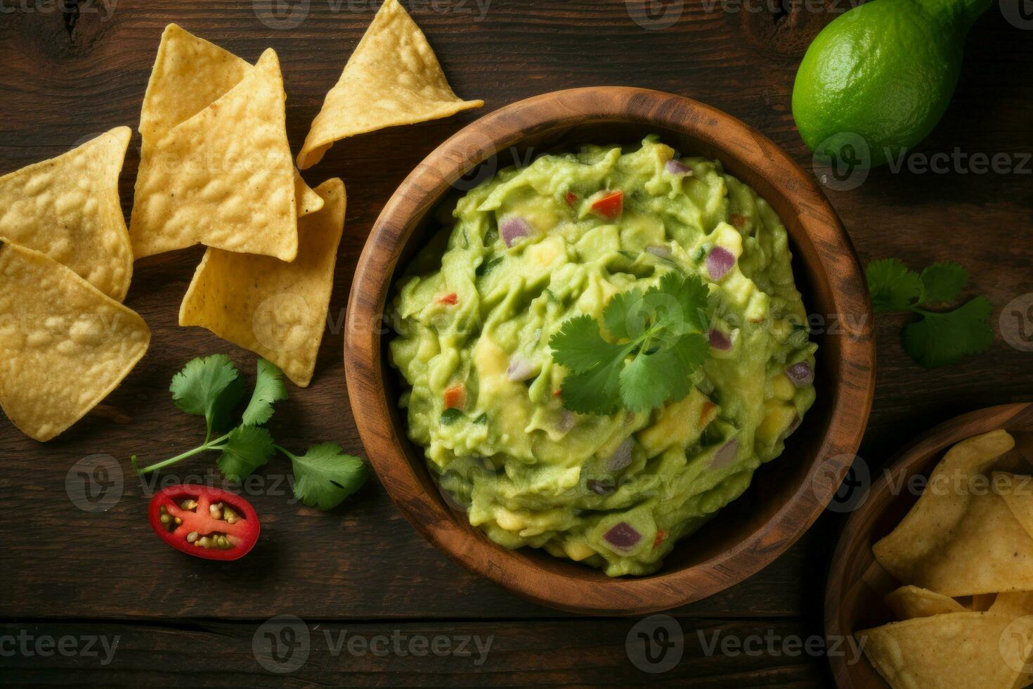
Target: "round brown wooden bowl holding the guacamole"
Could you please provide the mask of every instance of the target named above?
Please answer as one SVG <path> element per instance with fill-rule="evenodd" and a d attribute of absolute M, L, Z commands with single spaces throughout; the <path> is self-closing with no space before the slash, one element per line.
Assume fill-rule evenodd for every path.
<path fill-rule="evenodd" d="M 797 285 L 811 313 L 838 319 L 815 336 L 818 402 L 784 455 L 657 573 L 609 578 L 547 554 L 509 551 L 451 510 L 406 437 L 398 373 L 387 365 L 384 305 L 397 265 L 426 245 L 432 211 L 529 154 L 580 144 L 637 143 L 648 133 L 686 155 L 718 158 L 786 223 Z M 510 156 L 513 156 L 511 158 Z M 464 177 L 465 175 L 465 177 Z M 836 314 L 839 314 L 838 316 Z M 370 461 L 405 516 L 463 566 L 531 600 L 564 610 L 640 615 L 698 600 L 753 574 L 821 512 L 860 442 L 874 386 L 872 310 L 857 258 L 812 176 L 739 120 L 688 98 L 631 88 L 559 91 L 513 103 L 431 153 L 377 219 L 351 287 L 345 335 L 348 392 Z M 758 490 L 757 487 L 762 487 Z"/>

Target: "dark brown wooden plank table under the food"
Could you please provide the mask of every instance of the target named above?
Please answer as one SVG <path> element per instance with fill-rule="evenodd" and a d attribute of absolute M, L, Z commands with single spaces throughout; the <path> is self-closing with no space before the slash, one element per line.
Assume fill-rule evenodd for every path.
<path fill-rule="evenodd" d="M 649 87 L 735 115 L 808 167 L 811 156 L 789 106 L 796 64 L 818 29 L 849 6 L 785 3 L 783 8 L 769 0 L 404 1 L 457 93 L 483 98 L 486 109 L 569 87 Z M 135 127 L 158 38 L 169 22 L 250 61 L 268 46 L 277 50 L 296 150 L 375 8 L 371 0 L 273 1 L 278 4 L 279 14 L 271 13 L 265 0 L 0 0 L 0 171 L 58 155 L 116 125 Z M 304 18 L 290 13 L 305 8 Z M 919 165 L 878 169 L 855 189 L 828 191 L 864 261 L 896 256 L 917 269 L 936 260 L 963 262 L 972 274 L 971 293 L 987 294 L 995 305 L 995 331 L 1005 305 L 1033 292 L 1031 36 L 1006 21 L 995 3 L 972 32 L 946 116 L 912 153 Z M 337 440 L 349 451 L 364 452 L 341 357 L 358 253 L 406 174 L 477 116 L 464 113 L 349 139 L 307 170 L 313 186 L 332 176 L 345 180 L 348 217 L 315 379 L 308 389 L 290 388 L 292 399 L 272 424 L 284 444 L 301 448 Z M 122 176 L 127 217 L 138 146 L 134 135 Z M 962 163 L 920 171 L 921 160 L 934 154 L 961 160 L 1004 154 L 1010 171 L 977 173 Z M 537 607 L 467 573 L 416 534 L 375 479 L 322 513 L 291 501 L 289 465 L 277 459 L 245 489 L 263 515 L 261 543 L 246 559 L 212 566 L 163 545 L 146 519 L 154 484 L 131 473 L 128 458 L 167 457 L 193 446 L 197 419 L 176 412 L 166 392 L 186 361 L 225 351 L 248 372 L 254 363 L 253 355 L 207 331 L 177 326 L 180 300 L 200 256 L 197 248 L 137 263 L 127 304 L 153 330 L 151 350 L 88 418 L 45 445 L 0 419 L 0 683 L 648 681 L 785 687 L 829 682 L 816 641 L 805 643 L 822 634 L 821 593 L 842 524 L 835 510 L 762 572 L 672 610 L 684 630 L 684 653 L 661 674 L 643 671 L 629 659 L 629 649 L 634 655 L 636 644 L 640 647 L 635 633 L 626 646 L 635 620 L 578 618 Z M 999 334 L 989 353 L 927 372 L 901 349 L 903 322 L 895 317 L 878 322 L 878 388 L 860 450 L 872 472 L 907 437 L 938 421 L 1033 399 L 1033 354 L 1009 346 Z M 1033 323 L 1028 325 L 1033 331 Z M 121 498 L 104 512 L 77 508 L 66 491 L 69 469 L 93 455 L 115 458 L 121 471 L 113 475 L 123 477 Z M 207 480 L 215 479 L 213 470 L 212 458 L 197 458 L 168 475 L 177 482 Z M 277 626 L 283 620 L 260 628 L 276 616 L 294 616 L 305 624 L 295 621 L 293 636 Z M 256 661 L 255 644 L 268 641 L 271 629 L 283 649 L 293 638 L 291 648 L 307 650 L 299 669 L 280 675 Z M 303 647 L 306 631 L 309 641 Z M 470 641 L 466 652 L 459 648 L 464 637 L 474 636 L 482 644 L 492 638 L 487 657 Z M 116 639 L 108 658 L 103 644 Z M 289 669 L 302 655 L 284 651 L 278 657 L 286 664 L 274 669 Z"/>

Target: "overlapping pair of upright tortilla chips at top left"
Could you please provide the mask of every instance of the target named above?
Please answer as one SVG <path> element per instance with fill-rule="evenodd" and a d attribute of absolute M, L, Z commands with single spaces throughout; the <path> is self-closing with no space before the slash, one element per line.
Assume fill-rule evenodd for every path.
<path fill-rule="evenodd" d="M 140 113 L 129 234 L 136 258 L 195 244 L 292 260 L 299 205 L 275 51 L 255 66 L 166 27 Z"/>

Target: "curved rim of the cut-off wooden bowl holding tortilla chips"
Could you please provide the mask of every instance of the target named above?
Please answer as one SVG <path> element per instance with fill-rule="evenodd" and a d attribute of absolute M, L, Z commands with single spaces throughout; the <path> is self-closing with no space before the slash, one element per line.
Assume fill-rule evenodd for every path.
<path fill-rule="evenodd" d="M 868 541 L 874 540 L 871 536 L 879 520 L 897 502 L 903 500 L 911 500 L 912 504 L 917 502 L 917 497 L 910 496 L 906 492 L 894 495 L 890 487 L 904 486 L 912 476 L 928 474 L 935 468 L 944 450 L 963 440 L 995 429 L 1016 425 L 1033 425 L 1033 402 L 1011 402 L 983 407 L 948 418 L 904 443 L 882 467 L 879 477 L 872 481 L 864 501 L 847 516 L 836 538 L 836 549 L 828 566 L 828 575 L 825 577 L 823 595 L 825 638 L 845 638 L 856 631 L 848 628 L 850 626 L 848 613 L 843 602 L 848 594 L 847 584 L 856 584 L 849 577 L 854 569 L 852 556 L 857 547 L 867 545 L 871 562 L 875 563 L 875 557 L 871 554 L 872 543 Z M 872 672 L 878 675 L 875 668 L 871 667 L 867 656 L 862 663 L 867 664 Z M 849 663 L 843 655 L 828 655 L 828 665 L 836 686 L 840 689 L 872 686 L 858 677 L 856 665 Z M 888 684 L 883 682 L 881 686 L 887 687 Z"/>

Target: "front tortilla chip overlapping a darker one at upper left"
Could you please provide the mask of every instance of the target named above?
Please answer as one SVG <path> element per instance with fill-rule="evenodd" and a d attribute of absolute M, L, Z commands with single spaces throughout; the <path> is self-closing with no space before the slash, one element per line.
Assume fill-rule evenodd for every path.
<path fill-rule="evenodd" d="M 144 147 L 129 237 L 137 258 L 205 244 L 293 260 L 296 170 L 272 49 L 221 98 Z"/>

